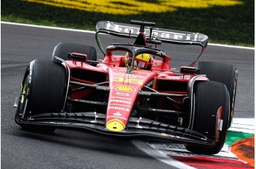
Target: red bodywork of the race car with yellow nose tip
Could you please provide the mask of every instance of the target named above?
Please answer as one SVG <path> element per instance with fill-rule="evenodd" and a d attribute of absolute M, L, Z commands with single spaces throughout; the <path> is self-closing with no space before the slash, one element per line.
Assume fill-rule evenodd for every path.
<path fill-rule="evenodd" d="M 144 36 L 144 33 L 141 32 Z M 146 43 L 146 42 L 145 42 Z M 138 92 L 142 91 L 144 85 L 151 85 L 152 89 L 159 91 L 159 82 L 173 81 L 180 82 L 187 86 L 188 81 L 194 77 L 194 74 L 174 75 L 175 70 L 171 69 L 169 61 L 170 56 L 162 56 L 162 60 L 151 59 L 151 70 L 134 70 L 132 74 L 127 73 L 127 67 L 124 66 L 125 55 L 112 55 L 112 49 L 108 49 L 106 56 L 102 62 L 99 62 L 96 67 L 88 65 L 86 62 L 73 60 L 67 61 L 71 72 L 75 69 L 87 70 L 90 76 L 97 73 L 104 74 L 105 78 L 102 82 L 109 81 L 110 93 L 108 96 L 108 104 L 106 110 L 106 127 L 110 131 L 122 131 L 127 126 L 129 116 L 132 113 L 134 104 L 143 102 L 137 98 Z M 76 54 L 77 55 L 77 54 Z M 71 73 L 70 80 L 75 82 L 95 84 L 96 82 L 76 79 Z M 197 80 L 208 80 L 206 77 L 198 77 Z M 162 85 L 162 84 L 161 84 Z M 75 86 L 73 86 L 75 87 Z M 171 89 L 171 87 L 169 87 Z M 92 91 L 84 91 L 71 94 L 71 99 L 82 99 Z M 183 91 L 177 90 L 162 90 L 162 93 L 169 94 L 188 94 L 187 89 Z M 181 102 L 181 98 L 176 98 L 177 102 Z M 161 104 L 159 104 L 161 105 Z M 159 107 L 164 107 L 161 105 Z M 174 107 L 176 107 L 174 105 Z M 177 107 L 178 108 L 178 107 Z"/>

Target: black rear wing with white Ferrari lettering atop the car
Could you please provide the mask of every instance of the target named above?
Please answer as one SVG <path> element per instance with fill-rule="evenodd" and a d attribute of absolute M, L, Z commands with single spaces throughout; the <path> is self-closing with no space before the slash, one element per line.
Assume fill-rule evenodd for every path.
<path fill-rule="evenodd" d="M 144 24 L 144 35 L 147 40 L 161 40 L 161 42 L 164 43 L 175 43 L 181 45 L 201 45 L 202 48 L 206 48 L 207 46 L 208 36 L 204 34 L 175 31 L 164 28 L 153 28 L 154 23 L 144 23 L 146 23 Z M 98 33 L 107 33 L 113 36 L 121 36 L 127 38 L 137 38 L 139 31 L 141 31 L 141 26 L 137 24 L 134 25 L 127 23 L 115 23 L 110 21 L 99 21 L 96 24 L 96 40 L 102 52 L 105 53 L 105 49 L 102 48 L 100 43 L 100 38 L 97 36 Z"/>

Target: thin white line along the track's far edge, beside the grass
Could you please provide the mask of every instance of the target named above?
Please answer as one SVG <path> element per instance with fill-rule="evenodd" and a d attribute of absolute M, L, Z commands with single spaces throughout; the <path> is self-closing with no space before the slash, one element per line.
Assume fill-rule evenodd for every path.
<path fill-rule="evenodd" d="M 31 24 L 26 24 L 26 23 L 13 23 L 13 22 L 6 22 L 6 21 L 1 21 L 1 23 L 17 25 L 17 26 L 29 26 L 29 27 L 34 27 L 34 28 L 48 28 L 48 29 L 55 29 L 55 30 L 62 30 L 62 31 L 95 33 L 95 31 L 87 31 L 87 30 L 73 29 L 73 28 L 60 28 L 60 27 L 53 27 L 53 26 L 37 26 L 37 25 L 31 25 Z M 240 48 L 240 49 L 255 50 L 255 48 L 245 47 L 245 46 L 237 46 L 237 45 L 223 45 L 223 44 L 218 44 L 218 43 L 208 43 L 208 45 L 215 45 L 215 46 L 220 46 L 220 47 L 225 47 L 225 48 Z"/>

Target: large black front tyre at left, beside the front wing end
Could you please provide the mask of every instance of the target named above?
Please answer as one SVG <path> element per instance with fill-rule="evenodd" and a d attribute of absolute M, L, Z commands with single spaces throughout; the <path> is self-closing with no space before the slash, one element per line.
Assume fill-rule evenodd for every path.
<path fill-rule="evenodd" d="M 16 122 L 27 131 L 53 132 L 54 127 L 23 124 L 30 116 L 60 112 L 66 92 L 66 72 L 63 65 L 50 60 L 33 60 L 23 77 L 16 110 Z"/>

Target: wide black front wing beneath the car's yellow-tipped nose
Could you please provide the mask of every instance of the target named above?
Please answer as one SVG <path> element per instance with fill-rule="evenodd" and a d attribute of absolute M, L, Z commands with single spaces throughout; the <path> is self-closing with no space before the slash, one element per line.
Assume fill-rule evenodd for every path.
<path fill-rule="evenodd" d="M 57 129 L 85 129 L 108 136 L 145 138 L 154 141 L 176 142 L 198 146 L 215 146 L 216 141 L 210 140 L 202 133 L 178 126 L 163 124 L 151 119 L 130 117 L 123 131 L 109 131 L 105 127 L 106 114 L 96 112 L 79 113 L 45 113 L 20 119 L 16 116 L 17 124 L 33 124 L 54 126 Z"/>

